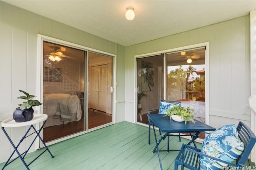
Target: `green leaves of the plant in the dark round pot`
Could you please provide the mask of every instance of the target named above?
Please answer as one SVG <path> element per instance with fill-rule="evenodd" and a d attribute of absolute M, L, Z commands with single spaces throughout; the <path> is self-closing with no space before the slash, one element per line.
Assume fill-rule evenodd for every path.
<path fill-rule="evenodd" d="M 22 109 L 22 110 L 29 109 L 30 107 L 39 106 L 42 104 L 38 100 L 32 100 L 36 96 L 30 95 L 27 92 L 24 92 L 23 90 L 20 90 L 20 92 L 22 92 L 26 95 L 26 96 L 20 96 L 17 98 L 17 99 L 25 99 L 26 100 L 26 102 L 22 102 L 22 104 L 18 104 L 18 106 L 20 106 L 20 109 Z"/>

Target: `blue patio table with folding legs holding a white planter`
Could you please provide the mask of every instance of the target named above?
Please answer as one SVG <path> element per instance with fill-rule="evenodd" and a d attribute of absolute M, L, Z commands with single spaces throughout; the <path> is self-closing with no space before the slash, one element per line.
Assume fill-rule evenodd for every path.
<path fill-rule="evenodd" d="M 214 127 L 206 125 L 205 123 L 202 123 L 197 120 L 195 120 L 195 123 L 193 123 L 192 121 L 187 121 L 187 124 L 185 124 L 184 122 L 177 122 L 172 119 L 170 121 L 169 116 L 165 116 L 165 114 L 148 114 L 148 117 L 152 121 L 154 137 L 156 141 L 156 146 L 153 149 L 152 153 L 154 153 L 154 151 L 157 150 L 161 170 L 162 170 L 162 162 L 161 162 L 159 151 L 166 151 L 166 150 L 159 150 L 158 145 L 162 140 L 164 140 L 167 136 L 169 136 L 169 133 L 190 133 L 189 136 L 191 136 L 191 141 L 187 145 L 194 143 L 196 147 L 196 143 L 194 141 L 199 137 L 199 134 L 201 132 L 205 133 L 205 131 L 216 130 Z M 160 136 L 159 140 L 157 140 L 156 138 L 156 131 L 154 126 L 157 126 L 158 129 L 162 132 L 162 135 Z M 167 147 L 168 147 L 167 152 L 169 152 L 169 140 L 168 140 Z M 173 150 L 170 150 L 170 151 L 173 151 Z"/>

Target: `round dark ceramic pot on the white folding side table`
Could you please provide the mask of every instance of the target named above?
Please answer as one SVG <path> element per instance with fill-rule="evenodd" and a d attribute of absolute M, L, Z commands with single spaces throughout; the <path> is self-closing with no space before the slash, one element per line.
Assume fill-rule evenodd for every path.
<path fill-rule="evenodd" d="M 24 122 L 24 121 L 30 121 L 34 117 L 34 109 L 29 108 L 29 109 L 20 109 L 20 107 L 16 108 L 16 110 L 13 112 L 13 119 L 16 122 Z"/>

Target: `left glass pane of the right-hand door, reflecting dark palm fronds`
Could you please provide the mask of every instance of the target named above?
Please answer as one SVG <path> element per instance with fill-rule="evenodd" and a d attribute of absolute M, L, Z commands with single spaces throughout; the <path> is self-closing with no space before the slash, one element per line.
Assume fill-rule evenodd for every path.
<path fill-rule="evenodd" d="M 164 98 L 164 55 L 138 58 L 137 108 L 138 122 L 148 124 L 148 110 L 158 109 Z"/>

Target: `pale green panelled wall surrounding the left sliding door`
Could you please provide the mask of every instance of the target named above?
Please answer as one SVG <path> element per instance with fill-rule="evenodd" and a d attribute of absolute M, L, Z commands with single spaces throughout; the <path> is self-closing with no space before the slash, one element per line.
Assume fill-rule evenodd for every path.
<path fill-rule="evenodd" d="M 12 117 L 20 100 L 19 89 L 36 94 L 37 87 L 37 34 L 68 41 L 92 49 L 117 55 L 116 121 L 124 120 L 124 62 L 125 47 L 78 30 L 63 23 L 39 16 L 21 8 L 0 2 L 0 118 Z M 39 96 L 38 96 L 39 98 Z M 6 128 L 8 134 L 18 143 L 26 127 Z M 0 131 L 0 161 L 6 161 L 12 147 Z M 24 151 L 31 138 L 20 145 Z M 35 146 L 32 146 L 32 151 Z"/>

